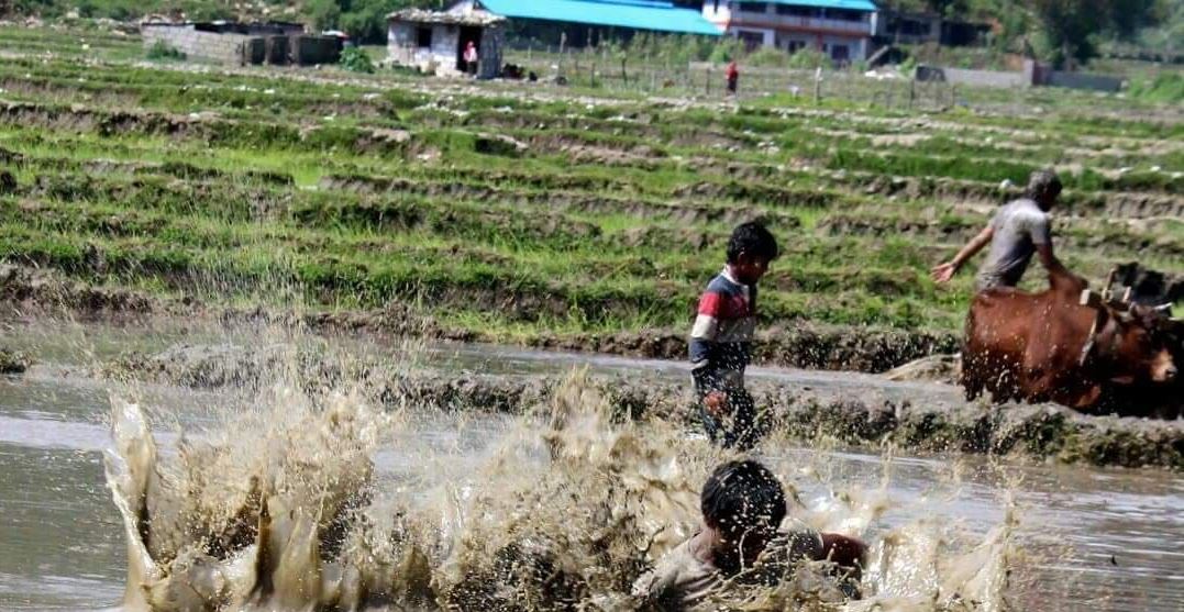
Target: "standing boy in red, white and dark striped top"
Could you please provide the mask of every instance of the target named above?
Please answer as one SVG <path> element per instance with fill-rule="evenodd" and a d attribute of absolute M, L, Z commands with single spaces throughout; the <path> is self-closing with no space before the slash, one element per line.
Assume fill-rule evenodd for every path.
<path fill-rule="evenodd" d="M 760 439 L 752 395 L 744 371 L 752 360 L 757 327 L 757 282 L 777 258 L 777 240 L 758 223 L 732 232 L 727 265 L 699 299 L 690 330 L 691 376 L 703 427 L 725 447 L 748 449 Z"/>

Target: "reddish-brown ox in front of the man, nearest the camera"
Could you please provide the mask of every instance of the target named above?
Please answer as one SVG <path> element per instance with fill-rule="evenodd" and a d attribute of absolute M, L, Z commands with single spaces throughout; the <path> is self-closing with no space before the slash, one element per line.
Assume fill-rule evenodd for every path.
<path fill-rule="evenodd" d="M 967 399 L 1055 401 L 1081 411 L 1148 391 L 1170 393 L 1177 366 L 1160 334 L 1092 299 L 1085 281 L 1051 275 L 1049 289 L 1027 294 L 990 289 L 974 296 L 966 317 L 960 382 Z"/>

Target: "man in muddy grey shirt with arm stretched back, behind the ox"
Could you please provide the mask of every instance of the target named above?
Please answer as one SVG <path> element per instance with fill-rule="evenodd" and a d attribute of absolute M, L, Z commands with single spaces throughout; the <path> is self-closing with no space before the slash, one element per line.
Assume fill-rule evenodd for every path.
<path fill-rule="evenodd" d="M 1023 278 L 1034 253 L 1040 253 L 1044 269 L 1064 272 L 1064 266 L 1053 255 L 1053 237 L 1048 211 L 1061 194 L 1061 180 L 1048 170 L 1034 172 L 1028 180 L 1024 198 L 999 208 L 978 236 L 958 255 L 933 269 L 933 279 L 948 283 L 967 259 L 974 257 L 987 243 L 991 250 L 978 271 L 974 289 L 1016 286 Z"/>

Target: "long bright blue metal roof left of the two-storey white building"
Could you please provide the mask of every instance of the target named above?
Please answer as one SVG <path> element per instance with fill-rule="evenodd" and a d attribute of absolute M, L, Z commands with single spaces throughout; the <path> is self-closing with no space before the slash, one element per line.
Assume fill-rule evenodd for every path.
<path fill-rule="evenodd" d="M 720 36 L 720 28 L 691 8 L 663 0 L 480 0 L 490 13 L 510 19 L 546 19 L 684 34 Z"/>

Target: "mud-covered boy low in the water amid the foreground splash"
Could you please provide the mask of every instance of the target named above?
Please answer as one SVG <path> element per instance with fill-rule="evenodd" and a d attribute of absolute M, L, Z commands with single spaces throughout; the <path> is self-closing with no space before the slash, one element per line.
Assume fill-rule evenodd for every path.
<path fill-rule="evenodd" d="M 764 465 L 754 460 L 720 465 L 703 484 L 700 504 L 700 532 L 633 584 L 642 607 L 706 606 L 731 585 L 776 586 L 803 561 L 829 561 L 847 582 L 844 592 L 857 594 L 867 546 L 838 534 L 780 530 L 785 491 Z"/>

